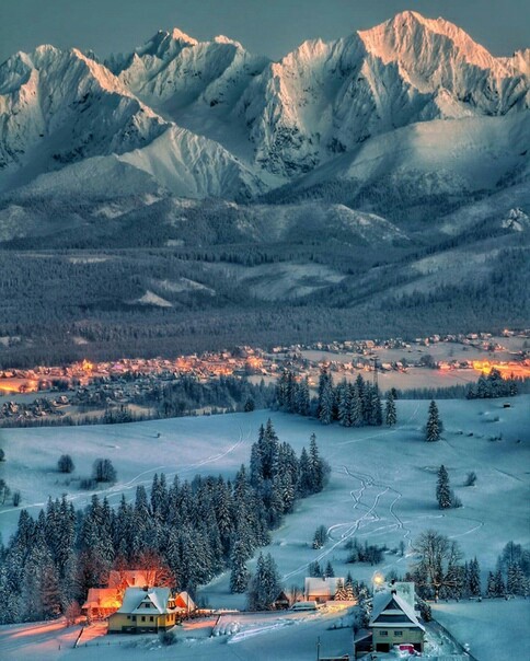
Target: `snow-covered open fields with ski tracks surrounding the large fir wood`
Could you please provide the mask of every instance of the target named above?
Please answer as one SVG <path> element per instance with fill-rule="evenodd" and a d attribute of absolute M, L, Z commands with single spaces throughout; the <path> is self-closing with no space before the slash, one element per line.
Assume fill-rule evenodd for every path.
<path fill-rule="evenodd" d="M 350 570 L 356 579 L 369 580 L 376 568 L 345 564 L 344 543 L 353 536 L 360 542 L 385 543 L 391 549 L 404 541 L 405 557 L 389 553 L 377 567 L 383 572 L 390 569 L 404 572 L 410 544 L 427 527 L 458 540 L 466 558 L 476 555 L 485 572 L 494 568 L 497 555 L 508 541 L 527 547 L 530 544 L 530 396 L 519 396 L 510 402 L 511 408 L 506 409 L 503 401 L 439 402 L 446 431 L 443 440 L 434 444 L 423 440 L 428 402 L 404 401 L 398 403 L 399 425 L 394 429 L 323 427 L 314 420 L 269 411 L 106 427 L 4 429 L 1 445 L 7 462 L 0 469 L 11 489 L 20 489 L 21 507 L 36 515 L 48 496 L 67 492 L 80 507 L 93 494 L 79 490 L 78 482 L 57 473 L 60 454 L 71 454 L 76 464 L 73 477 L 90 475 L 95 459 L 108 457 L 117 469 L 118 482 L 101 495 L 105 494 L 112 503 L 116 503 L 122 492 L 134 498 L 137 485 L 149 486 L 154 473 L 164 472 L 169 478 L 178 473 L 183 479 L 193 478 L 197 473 L 233 475 L 242 462 L 247 463 L 258 426 L 270 415 L 280 440 L 291 443 L 298 452 L 309 444 L 314 431 L 321 453 L 332 465 L 331 483 L 325 491 L 300 502 L 297 511 L 274 533 L 273 543 L 266 549 L 275 557 L 286 587 L 302 585 L 307 566 L 314 559 L 331 560 L 336 576 Z M 502 440 L 492 440 L 499 436 Z M 462 509 L 446 512 L 437 509 L 436 471 L 442 463 L 448 468 L 452 488 L 463 502 Z M 477 475 L 475 487 L 463 486 L 470 471 Z M 20 508 L 12 507 L 4 507 L 0 512 L 4 540 L 14 530 L 19 513 Z M 330 541 L 323 549 L 313 550 L 312 536 L 321 523 L 327 526 Z M 228 575 L 205 587 L 203 595 L 216 607 L 244 605 L 241 596 L 229 594 Z M 459 604 L 458 608 L 468 606 L 485 606 L 481 611 L 484 626 L 497 628 L 495 611 L 486 611 L 488 604 Z M 452 607 L 448 606 L 450 613 Z M 520 613 L 522 615 L 522 610 Z M 451 623 L 447 624 L 452 627 Z M 290 659 L 312 658 L 316 635 L 321 634 L 333 638 L 333 649 L 326 650 L 326 654 L 349 651 L 350 633 L 344 634 L 348 629 L 326 634 L 325 617 L 297 625 L 275 627 L 274 636 L 264 631 L 229 646 L 224 645 L 227 637 L 215 641 L 208 639 L 197 643 L 196 649 L 194 647 L 193 656 L 197 659 L 281 659 L 280 650 L 290 649 Z M 509 618 L 503 621 L 502 626 L 506 630 Z M 0 639 L 7 634 L 3 628 Z M 466 641 L 464 637 L 457 637 Z M 34 639 L 35 645 L 39 645 L 38 636 Z M 339 639 L 341 642 L 335 645 Z M 13 635 L 10 635 L 11 647 L 4 650 L 9 652 L 7 658 L 54 658 L 46 657 L 38 647 L 32 647 L 26 636 L 19 640 L 24 647 L 13 648 Z M 170 648 L 172 651 L 160 650 L 160 658 L 186 658 L 188 648 L 182 657 L 175 653 L 188 645 Z M 214 645 L 215 651 L 210 647 Z M 232 648 L 233 652 L 230 651 Z M 115 649 L 110 648 L 108 659 L 117 658 Z M 1 650 L 0 641 L 0 654 Z M 297 656 L 292 656 L 293 650 Z M 127 654 L 134 656 L 137 651 L 135 648 Z M 145 651 L 142 648 L 142 653 Z M 90 648 L 76 652 L 80 659 L 94 658 L 88 656 L 90 653 Z M 201 653 L 205 656 L 200 657 Z M 479 654 L 477 658 L 494 661 L 502 657 Z"/>

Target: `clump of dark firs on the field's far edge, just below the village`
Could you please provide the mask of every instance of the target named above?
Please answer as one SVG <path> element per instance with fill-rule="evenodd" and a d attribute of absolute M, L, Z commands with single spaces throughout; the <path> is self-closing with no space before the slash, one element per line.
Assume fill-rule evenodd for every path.
<path fill-rule="evenodd" d="M 383 415 L 381 395 L 376 384 L 358 374 L 354 383 L 343 380 L 335 386 L 325 367 L 321 369 L 318 396 L 313 398 L 307 378 L 297 380 L 293 372 L 284 370 L 276 386 L 276 404 L 287 413 L 314 416 L 323 425 L 338 420 L 344 427 L 380 426 L 384 419 L 392 427 L 398 421 L 392 392 L 387 397 Z"/>

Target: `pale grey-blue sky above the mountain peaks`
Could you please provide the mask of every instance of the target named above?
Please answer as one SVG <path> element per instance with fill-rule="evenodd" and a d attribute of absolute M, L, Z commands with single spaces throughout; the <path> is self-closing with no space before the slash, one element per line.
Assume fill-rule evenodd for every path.
<path fill-rule="evenodd" d="M 224 34 L 274 59 L 307 38 L 331 40 L 413 9 L 460 25 L 495 55 L 530 46 L 528 0 L 0 0 L 0 62 L 39 44 L 131 50 L 157 30 Z"/>

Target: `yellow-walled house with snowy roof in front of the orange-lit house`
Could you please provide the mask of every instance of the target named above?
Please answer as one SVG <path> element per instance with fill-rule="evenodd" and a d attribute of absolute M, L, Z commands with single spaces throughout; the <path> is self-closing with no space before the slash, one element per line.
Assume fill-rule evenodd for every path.
<path fill-rule="evenodd" d="M 170 588 L 127 588 L 122 606 L 108 618 L 108 634 L 155 634 L 170 629 L 185 614 Z"/>

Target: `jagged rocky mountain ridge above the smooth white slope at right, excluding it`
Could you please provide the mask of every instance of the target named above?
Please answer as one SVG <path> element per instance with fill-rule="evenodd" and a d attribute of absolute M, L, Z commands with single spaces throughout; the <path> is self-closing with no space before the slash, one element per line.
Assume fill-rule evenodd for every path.
<path fill-rule="evenodd" d="M 0 190 L 93 156 L 138 166 L 157 142 L 176 156 L 171 173 L 158 169 L 169 190 L 251 199 L 405 126 L 525 113 L 529 61 L 530 49 L 494 57 L 412 11 L 277 62 L 178 28 L 104 62 L 39 46 L 0 66 Z"/>

